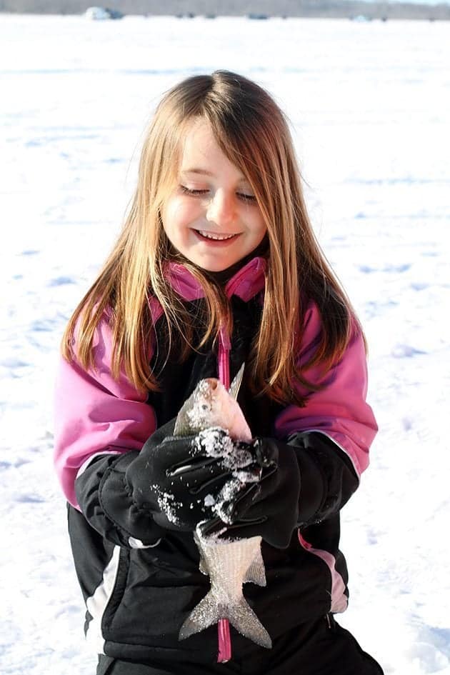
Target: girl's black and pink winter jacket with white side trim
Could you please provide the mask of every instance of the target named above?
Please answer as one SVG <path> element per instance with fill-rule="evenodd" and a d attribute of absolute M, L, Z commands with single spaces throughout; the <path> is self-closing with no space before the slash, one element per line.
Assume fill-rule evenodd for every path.
<path fill-rule="evenodd" d="M 199 554 L 190 533 L 152 529 L 117 481 L 108 477 L 117 455 L 132 461 L 158 426 L 176 416 L 198 381 L 219 376 L 225 385 L 249 355 L 259 325 L 264 294 L 263 258 L 251 259 L 226 284 L 234 314 L 233 335 L 221 331 L 212 344 L 193 351 L 183 364 L 167 361 L 159 375 L 161 391 L 136 391 L 124 372 L 111 376 L 111 329 L 108 317 L 96 331 L 95 368 L 61 359 L 56 383 L 55 465 L 69 509 L 69 534 L 86 602 L 86 639 L 99 654 L 150 664 L 167 661 L 214 663 L 218 660 L 214 627 L 179 642 L 181 624 L 209 589 L 199 571 Z M 181 264 L 167 274 L 176 293 L 198 314 L 202 289 Z M 164 314 L 155 300 L 151 311 L 157 335 L 164 334 Z M 321 331 L 316 305 L 306 309 L 297 360 L 314 353 Z M 274 336 L 274 339 L 277 339 Z M 164 349 L 149 354 L 156 373 Z M 316 382 L 319 371 L 305 372 Z M 366 354 L 355 331 L 346 352 L 320 391 L 301 389 L 306 405 L 281 406 L 254 397 L 244 383 L 239 404 L 254 436 L 271 436 L 299 446 L 302 490 L 299 528 L 287 549 L 263 541 L 267 586 L 244 586 L 244 594 L 274 642 L 285 643 L 296 626 L 329 612 L 346 609 L 347 572 L 339 551 L 339 511 L 359 485 L 369 464 L 376 422 L 366 404 Z M 302 443 L 304 441 L 302 440 Z M 114 487 L 113 487 L 114 486 Z M 114 501 L 111 517 L 108 505 Z M 220 626 L 219 660 L 231 653 L 237 661 L 256 657 L 261 647 L 229 626 Z"/>

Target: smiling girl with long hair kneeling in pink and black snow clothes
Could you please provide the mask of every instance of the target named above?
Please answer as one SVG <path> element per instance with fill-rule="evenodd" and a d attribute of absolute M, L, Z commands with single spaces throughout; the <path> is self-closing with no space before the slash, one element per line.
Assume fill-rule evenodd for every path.
<path fill-rule="evenodd" d="M 56 391 L 56 471 L 98 675 L 375 675 L 346 609 L 339 511 L 376 422 L 359 321 L 314 239 L 284 115 L 228 71 L 169 91 L 119 241 L 76 308 Z M 221 456 L 174 438 L 196 384 L 229 386 L 261 478 L 227 504 Z M 226 430 L 221 439 L 230 443 Z M 229 447 L 229 446 L 228 446 Z M 174 471 L 182 469 L 182 471 Z M 170 511 L 161 495 L 176 494 Z M 205 499 L 211 495 L 213 499 Z M 272 648 L 227 621 L 179 640 L 209 590 L 192 532 L 262 536 L 244 592 Z"/>

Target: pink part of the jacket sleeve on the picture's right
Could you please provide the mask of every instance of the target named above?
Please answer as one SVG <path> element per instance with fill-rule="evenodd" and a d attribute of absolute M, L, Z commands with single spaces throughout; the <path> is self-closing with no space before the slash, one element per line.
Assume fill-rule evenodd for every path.
<path fill-rule="evenodd" d="M 319 342 L 321 319 L 316 304 L 306 310 L 303 344 L 299 364 L 314 354 Z M 359 330 L 354 331 L 344 356 L 325 378 L 319 379 L 319 369 L 304 372 L 309 381 L 326 386 L 321 391 L 309 391 L 296 386 L 306 396 L 306 406 L 288 406 L 276 419 L 276 436 L 286 438 L 296 431 L 319 431 L 329 436 L 349 456 L 357 476 L 369 464 L 369 447 L 378 427 L 371 407 L 366 403 L 367 365 L 364 341 Z"/>

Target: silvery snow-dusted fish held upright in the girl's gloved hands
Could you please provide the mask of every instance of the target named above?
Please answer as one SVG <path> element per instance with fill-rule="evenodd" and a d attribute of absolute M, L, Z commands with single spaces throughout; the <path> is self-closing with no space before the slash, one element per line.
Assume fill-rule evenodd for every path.
<path fill-rule="evenodd" d="M 219 539 L 230 523 L 225 505 L 246 485 L 259 480 L 261 467 L 254 457 L 239 444 L 226 444 L 222 429 L 233 441 L 251 441 L 251 431 L 244 413 L 237 402 L 237 394 L 244 372 L 244 364 L 231 383 L 229 391 L 216 378 L 199 381 L 196 389 L 181 407 L 176 418 L 174 436 L 198 434 L 201 447 L 211 457 L 221 457 L 223 465 L 231 471 L 219 495 L 207 495 L 205 505 L 224 521 L 224 529 L 204 536 L 201 521 L 194 531 L 194 541 L 199 549 L 199 569 L 209 576 L 211 588 L 194 607 L 179 631 L 179 639 L 203 631 L 221 619 L 228 619 L 234 628 L 256 644 L 271 649 L 269 633 L 249 606 L 242 592 L 243 585 L 254 583 L 266 586 L 266 572 L 261 555 L 261 536 L 249 539 Z M 220 438 L 220 442 L 218 442 Z M 225 442 L 224 442 L 225 440 Z"/>

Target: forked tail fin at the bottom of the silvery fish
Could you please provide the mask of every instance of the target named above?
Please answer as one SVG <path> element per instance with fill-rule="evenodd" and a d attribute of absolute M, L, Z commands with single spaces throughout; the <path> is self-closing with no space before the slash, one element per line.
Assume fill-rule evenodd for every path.
<path fill-rule="evenodd" d="M 179 632 L 179 640 L 185 640 L 194 633 L 203 631 L 218 623 L 220 619 L 228 619 L 241 635 L 256 642 L 261 647 L 271 649 L 272 641 L 269 633 L 244 596 L 241 596 L 238 601 L 232 603 L 230 601 L 228 605 L 219 605 L 212 591 L 209 591 L 209 594 L 201 600 L 184 621 Z"/>

